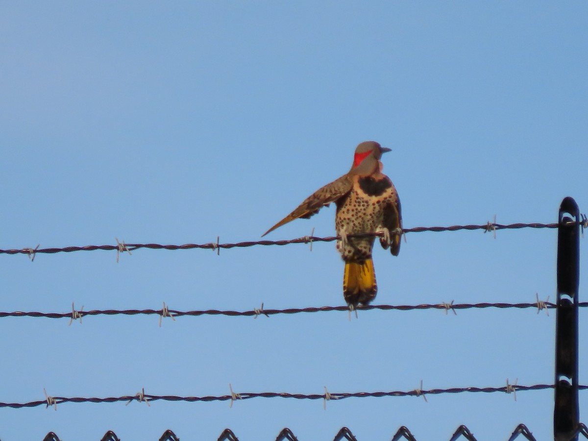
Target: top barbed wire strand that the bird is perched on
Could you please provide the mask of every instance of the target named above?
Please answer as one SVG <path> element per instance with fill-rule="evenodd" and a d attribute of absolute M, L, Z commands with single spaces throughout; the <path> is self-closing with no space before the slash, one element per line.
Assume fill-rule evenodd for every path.
<path fill-rule="evenodd" d="M 558 223 L 511 223 L 509 225 L 502 225 L 500 223 L 492 223 L 487 222 L 485 225 L 452 225 L 452 226 L 419 226 L 415 228 L 406 228 L 402 230 L 402 235 L 406 233 L 421 233 L 421 232 L 442 232 L 442 231 L 457 231 L 457 230 L 484 230 L 484 232 L 494 232 L 496 230 L 502 229 L 521 229 L 521 228 L 557 228 L 559 226 Z M 390 232 L 391 235 L 400 234 L 398 232 Z M 382 233 L 362 233 L 356 235 L 348 235 L 348 238 L 365 238 L 365 237 L 382 237 Z M 85 246 L 65 246 L 63 248 L 39 248 L 40 244 L 38 244 L 35 248 L 21 248 L 21 249 L 0 249 L 0 254 L 26 254 L 31 258 L 31 260 L 35 259 L 35 255 L 39 253 L 44 254 L 55 254 L 55 253 L 70 253 L 74 251 L 95 251 L 95 250 L 106 250 L 106 251 L 116 251 L 116 258 L 118 261 L 119 253 L 121 252 L 128 252 L 131 254 L 132 251 L 141 248 L 148 248 L 148 249 L 166 249 L 166 250 L 179 250 L 179 249 L 212 249 L 217 253 L 220 252 L 220 249 L 229 249 L 229 248 L 244 248 L 248 246 L 255 246 L 255 245 L 289 245 L 290 243 L 310 243 L 312 242 L 333 242 L 333 240 L 340 239 L 340 236 L 329 236 L 325 238 L 320 238 L 316 236 L 304 236 L 302 238 L 296 239 L 289 239 L 289 240 L 255 240 L 255 241 L 248 241 L 248 242 L 238 242 L 238 243 L 219 243 L 219 236 L 216 238 L 216 242 L 211 243 L 185 243 L 184 245 L 161 245 L 159 243 L 125 243 L 124 241 L 119 242 L 118 238 L 116 239 L 116 245 L 85 245 Z"/>

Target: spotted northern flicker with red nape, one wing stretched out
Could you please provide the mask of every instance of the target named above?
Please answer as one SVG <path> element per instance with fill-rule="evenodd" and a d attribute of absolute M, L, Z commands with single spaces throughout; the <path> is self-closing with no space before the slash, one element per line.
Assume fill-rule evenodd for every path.
<path fill-rule="evenodd" d="M 337 241 L 337 249 L 345 260 L 343 297 L 353 307 L 358 303 L 367 305 L 376 297 L 376 273 L 372 260 L 375 237 L 347 236 L 382 232 L 382 247 L 390 247 L 390 252 L 395 256 L 400 251 L 400 199 L 390 178 L 382 173 L 380 162 L 382 153 L 389 151 L 374 141 L 360 143 L 355 149 L 353 165 L 348 173 L 318 189 L 263 234 L 265 236 L 290 220 L 308 219 L 323 206 L 335 202 L 335 228 L 341 236 Z M 390 232 L 394 233 L 393 236 L 390 236 Z"/>

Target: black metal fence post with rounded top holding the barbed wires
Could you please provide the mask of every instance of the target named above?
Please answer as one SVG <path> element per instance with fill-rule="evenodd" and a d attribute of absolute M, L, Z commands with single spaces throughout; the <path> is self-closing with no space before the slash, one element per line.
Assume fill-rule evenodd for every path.
<path fill-rule="evenodd" d="M 576 201 L 568 197 L 560 205 L 557 230 L 555 406 L 553 410 L 553 435 L 556 441 L 577 441 L 578 439 L 579 278 L 580 212 Z"/>

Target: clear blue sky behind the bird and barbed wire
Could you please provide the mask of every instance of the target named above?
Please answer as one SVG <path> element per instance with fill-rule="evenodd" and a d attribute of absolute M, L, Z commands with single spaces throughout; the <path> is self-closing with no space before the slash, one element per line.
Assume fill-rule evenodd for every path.
<path fill-rule="evenodd" d="M 384 171 L 405 228 L 556 222 L 588 211 L 588 4 L 3 2 L 0 248 L 258 240 L 347 172 Z M 335 233 L 333 207 L 268 235 Z M 376 249 L 376 305 L 556 294 L 556 231 L 410 233 Z M 582 253 L 586 239 L 580 243 Z M 588 295 L 581 265 L 580 300 Z M 335 244 L 0 255 L 0 310 L 343 305 Z M 580 383 L 588 383 L 587 312 Z M 553 383 L 555 313 L 363 311 L 251 317 L 0 319 L 1 402 L 52 396 L 377 392 Z M 583 346 L 584 345 L 584 346 Z M 580 393 L 588 423 L 587 392 Z M 332 439 L 409 427 L 482 440 L 552 433 L 553 391 L 0 409 L 0 439 Z"/>

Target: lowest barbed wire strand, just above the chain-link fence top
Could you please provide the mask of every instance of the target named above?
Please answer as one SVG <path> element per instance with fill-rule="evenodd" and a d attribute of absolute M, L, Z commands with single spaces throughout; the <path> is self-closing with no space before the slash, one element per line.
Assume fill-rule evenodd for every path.
<path fill-rule="evenodd" d="M 219 395 L 219 396 L 176 396 L 176 395 L 150 395 L 145 393 L 145 390 L 142 389 L 141 392 L 136 393 L 135 395 L 123 395 L 119 397 L 62 397 L 62 396 L 50 396 L 47 395 L 45 392 L 45 399 L 44 400 L 35 400 L 27 403 L 2 403 L 0 402 L 0 407 L 10 407 L 12 409 L 22 409 L 24 407 L 37 407 L 37 406 L 46 406 L 46 407 L 54 407 L 57 410 L 57 406 L 63 403 L 116 403 L 116 402 L 126 402 L 126 405 L 133 401 L 145 402 L 147 405 L 154 401 L 163 400 L 163 401 L 179 401 L 179 402 L 215 402 L 215 401 L 229 401 L 230 405 L 232 406 L 233 402 L 238 400 L 248 400 L 252 398 L 292 398 L 297 400 L 323 400 L 324 403 L 332 400 L 342 400 L 346 398 L 367 398 L 367 397 L 399 397 L 399 396 L 416 396 L 423 398 L 426 395 L 440 395 L 443 393 L 464 393 L 464 392 L 483 392 L 483 393 L 493 393 L 493 392 L 505 392 L 505 393 L 512 393 L 512 392 L 523 392 L 526 390 L 544 390 L 544 389 L 554 389 L 555 385 L 532 385 L 532 386 L 523 386 L 523 385 L 510 385 L 508 380 L 506 382 L 506 386 L 501 387 L 450 387 L 449 389 L 428 389 L 423 390 L 421 389 L 413 389 L 407 391 L 393 391 L 393 392 L 343 392 L 343 393 L 333 393 L 328 392 L 327 388 L 325 387 L 325 393 L 323 394 L 304 394 L 304 393 L 288 393 L 288 392 L 240 392 L 235 393 L 233 392 L 232 386 L 229 385 L 230 394 L 229 395 Z M 578 386 L 580 390 L 588 389 L 588 385 L 580 385 Z"/>

